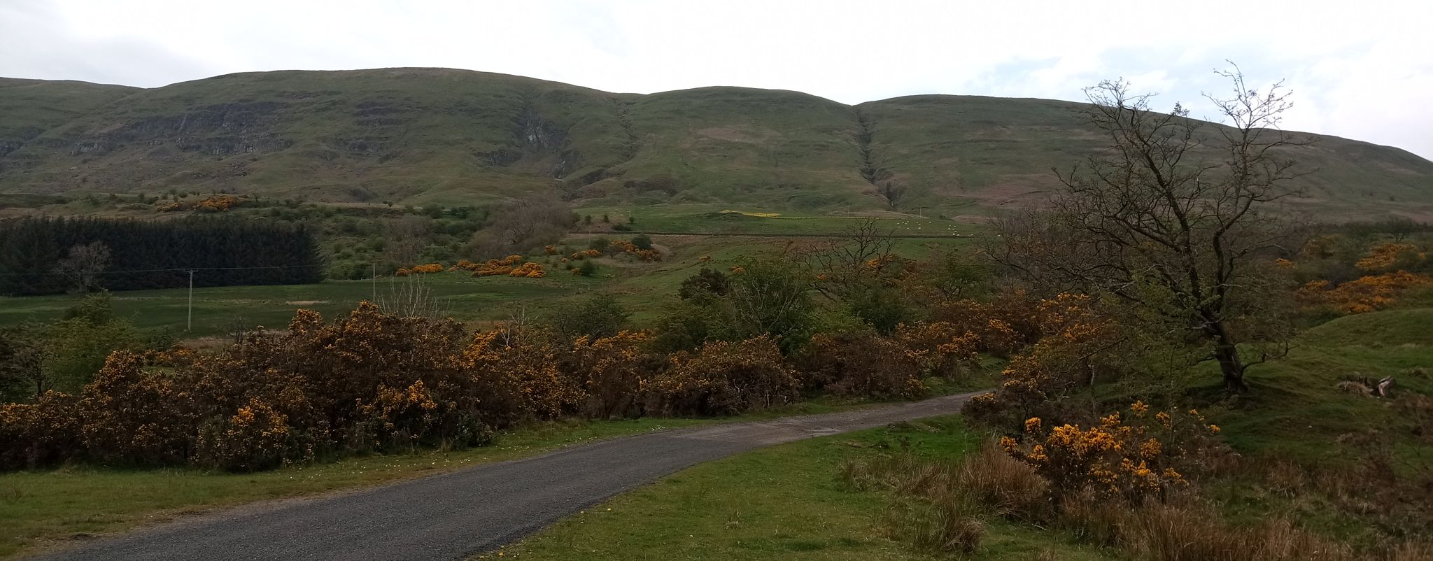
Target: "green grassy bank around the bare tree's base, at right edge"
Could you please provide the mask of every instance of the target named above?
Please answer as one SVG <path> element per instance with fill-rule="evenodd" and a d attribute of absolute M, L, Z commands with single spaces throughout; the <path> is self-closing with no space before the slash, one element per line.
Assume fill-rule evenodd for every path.
<path fill-rule="evenodd" d="M 1426 305 L 1409 299 L 1406 305 Z M 1208 497 L 1234 524 L 1284 517 L 1305 530 L 1358 547 L 1377 547 L 1387 528 L 1379 511 L 1351 512 L 1317 489 L 1291 495 L 1274 489 L 1260 467 L 1291 462 L 1305 474 L 1318 469 L 1367 469 L 1366 451 L 1341 436 L 1383 431 L 1391 438 L 1394 469 L 1433 469 L 1433 454 L 1413 434 L 1389 399 L 1350 394 L 1337 388 L 1344 379 L 1394 376 L 1394 399 L 1410 394 L 1433 395 L 1433 379 L 1409 374 L 1414 366 L 1433 368 L 1433 308 L 1389 309 L 1343 316 L 1314 326 L 1294 339 L 1288 356 L 1251 368 L 1250 392 L 1222 399 L 1218 369 L 1201 365 L 1191 372 L 1189 396 L 1215 401 L 1204 412 L 1221 426 L 1221 435 L 1250 467 L 1207 485 Z M 1313 475 L 1308 475 L 1313 477 Z M 1310 482 L 1317 479 L 1310 479 Z"/>

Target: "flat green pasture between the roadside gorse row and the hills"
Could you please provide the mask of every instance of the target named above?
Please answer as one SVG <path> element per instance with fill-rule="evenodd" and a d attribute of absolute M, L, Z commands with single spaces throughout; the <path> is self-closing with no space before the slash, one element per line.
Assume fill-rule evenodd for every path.
<path fill-rule="evenodd" d="M 759 219 L 758 219 L 759 220 Z M 851 226 L 851 219 L 825 220 L 821 232 L 841 232 Z M 801 223 L 804 220 L 785 220 Z M 782 223 L 785 223 L 782 222 Z M 950 223 L 950 222 L 944 222 Z M 881 220 L 878 225 L 888 232 L 911 228 L 916 220 Z M 745 232 L 755 232 L 748 229 Z M 573 235 L 565 243 L 585 246 L 593 238 L 626 239 L 628 232 L 608 235 Z M 553 259 L 536 256 L 546 263 L 550 275 L 542 279 L 520 279 L 509 276 L 471 278 L 467 272 L 443 272 L 417 276 L 384 276 L 373 280 L 325 280 L 312 285 L 267 285 L 267 286 L 218 286 L 193 291 L 193 329 L 185 333 L 189 313 L 188 289 L 125 291 L 113 293 L 115 312 L 140 329 L 168 329 L 172 333 L 189 336 L 229 335 L 238 328 L 282 328 L 292 319 L 297 309 L 312 309 L 324 316 L 348 313 L 367 299 L 383 302 L 401 292 L 404 283 L 421 282 L 438 305 L 454 319 L 466 322 L 503 321 L 526 311 L 540 312 L 563 298 L 592 291 L 609 292 L 633 312 L 636 323 L 651 319 L 662 305 L 674 302 L 682 279 L 694 275 L 702 266 L 725 270 L 739 258 L 780 255 L 782 250 L 811 250 L 823 240 L 808 238 L 704 238 L 704 236 L 652 236 L 663 252 L 661 262 L 636 262 L 629 259 L 600 258 L 598 275 L 592 278 L 570 275 Z M 970 249 L 979 243 L 973 238 L 950 239 L 897 239 L 894 249 L 906 256 L 924 258 L 934 250 Z M 702 259 L 708 258 L 708 259 Z M 380 270 L 380 275 L 388 272 Z M 0 296 L 0 325 L 21 322 L 46 322 L 63 316 L 75 306 L 80 295 L 53 296 Z"/>

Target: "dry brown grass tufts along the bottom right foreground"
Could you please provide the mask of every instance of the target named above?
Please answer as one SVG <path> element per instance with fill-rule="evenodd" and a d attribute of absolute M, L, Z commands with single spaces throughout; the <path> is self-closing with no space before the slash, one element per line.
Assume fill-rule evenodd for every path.
<path fill-rule="evenodd" d="M 1288 497 L 1328 484 L 1288 462 L 1261 468 L 1271 489 Z M 1192 491 L 1132 504 L 1091 489 L 1055 489 L 993 442 L 959 465 L 896 455 L 848 462 L 843 475 L 853 488 L 921 499 L 893 507 L 887 522 L 893 537 L 926 551 L 974 551 L 984 535 L 982 517 L 997 515 L 1149 561 L 1433 561 L 1433 545 L 1419 541 L 1358 552 L 1285 518 L 1232 525 Z M 1042 555 L 1036 560 L 1052 558 Z"/>

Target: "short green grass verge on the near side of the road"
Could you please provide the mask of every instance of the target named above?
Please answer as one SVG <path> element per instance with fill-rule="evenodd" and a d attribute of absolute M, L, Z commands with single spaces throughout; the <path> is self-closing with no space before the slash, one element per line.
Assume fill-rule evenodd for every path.
<path fill-rule="evenodd" d="M 702 464 L 616 497 L 503 550 L 519 560 L 930 560 L 880 521 L 894 499 L 838 481 L 850 458 L 903 445 L 956 458 L 980 445 L 959 416 L 815 438 Z M 1105 560 L 1098 551 L 993 522 L 972 560 Z M 496 558 L 487 552 L 477 558 Z"/>

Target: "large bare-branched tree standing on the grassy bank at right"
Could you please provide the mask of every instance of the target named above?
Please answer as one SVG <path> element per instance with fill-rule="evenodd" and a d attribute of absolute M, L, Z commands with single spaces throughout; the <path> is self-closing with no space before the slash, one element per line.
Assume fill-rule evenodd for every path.
<path fill-rule="evenodd" d="M 1234 94 L 1207 94 L 1228 120 L 1212 135 L 1179 104 L 1152 112 L 1151 96 L 1131 94 L 1123 80 L 1086 89 L 1108 150 L 1059 173 L 1065 189 L 1048 210 L 1002 220 L 995 256 L 1039 282 L 1112 293 L 1162 318 L 1208 343 L 1225 388 L 1244 391 L 1245 369 L 1268 355 L 1241 356 L 1235 326 L 1268 312 L 1260 288 L 1271 282 L 1257 259 L 1283 235 L 1270 206 L 1298 176 L 1280 149 L 1304 140 L 1278 129 L 1290 107 L 1283 83 L 1261 92 L 1238 69 L 1219 74 Z"/>

